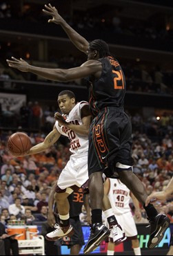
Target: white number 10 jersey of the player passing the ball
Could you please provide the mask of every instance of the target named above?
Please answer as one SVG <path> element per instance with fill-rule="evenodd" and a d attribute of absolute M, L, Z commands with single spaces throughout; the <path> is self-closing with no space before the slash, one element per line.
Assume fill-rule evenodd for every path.
<path fill-rule="evenodd" d="M 85 101 L 77 103 L 68 115 L 63 115 L 65 117 L 65 121 L 74 125 L 82 125 L 81 109 L 86 104 L 88 104 L 88 102 Z M 60 134 L 69 138 L 71 145 L 70 152 L 73 154 L 88 152 L 88 136 L 77 134 L 63 125 L 59 127 L 58 121 L 55 122 L 55 126 Z"/>

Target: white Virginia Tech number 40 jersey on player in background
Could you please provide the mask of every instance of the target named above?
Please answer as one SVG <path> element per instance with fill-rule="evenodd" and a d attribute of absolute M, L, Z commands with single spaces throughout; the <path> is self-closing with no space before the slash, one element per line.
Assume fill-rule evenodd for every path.
<path fill-rule="evenodd" d="M 124 214 L 126 212 L 131 212 L 130 209 L 130 190 L 121 183 L 119 179 L 109 179 L 110 180 L 110 191 L 108 197 L 112 205 L 112 210 L 114 214 Z"/>

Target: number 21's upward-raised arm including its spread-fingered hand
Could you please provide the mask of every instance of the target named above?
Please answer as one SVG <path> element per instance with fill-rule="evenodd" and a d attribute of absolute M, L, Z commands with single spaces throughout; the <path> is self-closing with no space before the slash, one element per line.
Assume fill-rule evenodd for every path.
<path fill-rule="evenodd" d="M 67 22 L 59 15 L 59 12 L 55 7 L 51 6 L 49 3 L 48 6 L 45 5 L 45 10 L 43 9 L 43 12 L 46 15 L 52 16 L 52 19 L 48 20 L 49 23 L 53 22 L 55 24 L 61 25 L 74 46 L 76 46 L 79 51 L 87 54 L 89 46 L 88 41 L 67 24 Z"/>

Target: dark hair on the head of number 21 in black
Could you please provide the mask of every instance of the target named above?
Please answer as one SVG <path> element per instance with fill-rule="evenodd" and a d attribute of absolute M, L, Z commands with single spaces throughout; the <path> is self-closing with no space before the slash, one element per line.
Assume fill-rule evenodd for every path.
<path fill-rule="evenodd" d="M 95 39 L 94 41 L 90 42 L 89 48 L 92 51 L 98 51 L 100 58 L 110 55 L 110 49 L 108 44 L 106 44 L 106 42 L 101 39 Z"/>

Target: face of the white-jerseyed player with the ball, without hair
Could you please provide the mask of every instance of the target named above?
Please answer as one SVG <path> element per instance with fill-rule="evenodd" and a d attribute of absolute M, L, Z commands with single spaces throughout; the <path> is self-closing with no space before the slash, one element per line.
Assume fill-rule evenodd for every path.
<path fill-rule="evenodd" d="M 68 115 L 75 104 L 75 99 L 68 97 L 67 94 L 61 95 L 58 98 L 59 108 L 61 112 L 65 115 Z"/>

